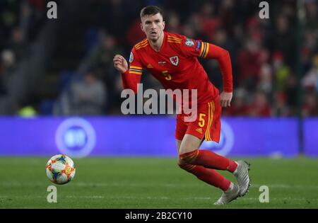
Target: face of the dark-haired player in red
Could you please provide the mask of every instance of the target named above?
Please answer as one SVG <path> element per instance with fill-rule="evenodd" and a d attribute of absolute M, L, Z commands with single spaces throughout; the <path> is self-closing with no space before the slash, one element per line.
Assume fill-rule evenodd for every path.
<path fill-rule="evenodd" d="M 157 41 L 163 35 L 164 28 L 165 21 L 160 13 L 141 18 L 141 30 L 146 33 L 148 40 Z"/>

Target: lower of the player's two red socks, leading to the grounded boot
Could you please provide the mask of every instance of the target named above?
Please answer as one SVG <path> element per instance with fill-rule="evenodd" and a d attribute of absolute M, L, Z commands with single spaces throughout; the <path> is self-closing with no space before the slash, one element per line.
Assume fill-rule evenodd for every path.
<path fill-rule="evenodd" d="M 189 173 L 193 173 L 199 180 L 220 188 L 223 191 L 228 190 L 230 187 L 231 182 L 211 168 L 191 164 L 179 164 L 179 166 Z"/>

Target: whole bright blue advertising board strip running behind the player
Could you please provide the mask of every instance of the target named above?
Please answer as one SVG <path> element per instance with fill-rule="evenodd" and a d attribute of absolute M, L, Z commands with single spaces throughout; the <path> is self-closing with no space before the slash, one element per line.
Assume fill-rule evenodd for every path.
<path fill-rule="evenodd" d="M 201 148 L 224 156 L 293 157 L 297 123 L 294 118 L 224 118 L 220 144 L 204 142 Z M 307 125 L 312 129 L 314 123 Z M 175 117 L 0 118 L 0 125 L 1 156 L 177 156 Z M 307 144 L 317 154 L 317 131 L 310 134 Z"/>

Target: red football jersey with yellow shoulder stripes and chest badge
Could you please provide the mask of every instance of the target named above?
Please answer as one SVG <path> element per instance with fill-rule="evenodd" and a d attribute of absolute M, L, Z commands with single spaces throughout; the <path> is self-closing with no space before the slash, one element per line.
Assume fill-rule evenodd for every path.
<path fill-rule="evenodd" d="M 147 69 L 165 89 L 197 89 L 197 104 L 208 103 L 218 96 L 218 88 L 208 80 L 197 57 L 208 55 L 209 44 L 184 35 L 164 32 L 159 52 L 153 50 L 147 39 L 131 50 L 129 74 L 142 74 Z M 191 104 L 191 103 L 190 103 Z"/>

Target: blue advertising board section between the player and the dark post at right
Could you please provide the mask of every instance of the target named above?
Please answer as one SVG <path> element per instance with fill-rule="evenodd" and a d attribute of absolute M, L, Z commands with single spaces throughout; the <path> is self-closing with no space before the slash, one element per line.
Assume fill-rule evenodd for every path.
<path fill-rule="evenodd" d="M 230 156 L 293 157 L 298 155 L 298 121 L 294 118 L 224 118 L 219 144 L 202 148 Z M 211 145 L 210 147 L 208 147 Z"/>

